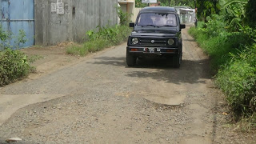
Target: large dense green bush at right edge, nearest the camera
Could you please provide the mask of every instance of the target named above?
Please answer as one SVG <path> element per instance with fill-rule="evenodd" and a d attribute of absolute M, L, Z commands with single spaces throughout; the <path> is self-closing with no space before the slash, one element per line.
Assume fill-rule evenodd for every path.
<path fill-rule="evenodd" d="M 256 112 L 256 45 L 231 55 L 230 62 L 218 70 L 217 85 L 235 112 L 253 114 Z"/>

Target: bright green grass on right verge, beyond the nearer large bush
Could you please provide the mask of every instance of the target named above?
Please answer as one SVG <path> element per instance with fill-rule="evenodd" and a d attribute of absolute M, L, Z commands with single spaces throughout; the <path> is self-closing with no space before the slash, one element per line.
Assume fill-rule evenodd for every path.
<path fill-rule="evenodd" d="M 191 27 L 189 33 L 195 38 L 199 46 L 210 56 L 211 66 L 217 71 L 222 65 L 230 62 L 230 54 L 238 54 L 242 46 L 246 45 L 246 34 L 222 32 L 211 37 L 200 29 Z"/>

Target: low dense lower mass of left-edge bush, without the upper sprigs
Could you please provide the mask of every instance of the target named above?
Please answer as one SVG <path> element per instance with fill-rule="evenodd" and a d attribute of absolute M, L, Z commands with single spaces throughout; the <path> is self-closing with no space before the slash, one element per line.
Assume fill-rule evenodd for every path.
<path fill-rule="evenodd" d="M 26 76 L 30 70 L 30 64 L 22 52 L 9 48 L 0 51 L 0 86 Z"/>

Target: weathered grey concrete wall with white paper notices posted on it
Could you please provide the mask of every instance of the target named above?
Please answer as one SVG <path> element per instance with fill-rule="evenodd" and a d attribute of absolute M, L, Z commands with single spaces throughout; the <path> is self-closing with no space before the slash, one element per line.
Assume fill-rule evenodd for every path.
<path fill-rule="evenodd" d="M 51 11 L 57 0 L 35 0 L 35 44 L 55 45 L 58 42 L 82 42 L 86 31 L 96 26 L 115 25 L 118 0 L 62 0 L 64 14 Z"/>

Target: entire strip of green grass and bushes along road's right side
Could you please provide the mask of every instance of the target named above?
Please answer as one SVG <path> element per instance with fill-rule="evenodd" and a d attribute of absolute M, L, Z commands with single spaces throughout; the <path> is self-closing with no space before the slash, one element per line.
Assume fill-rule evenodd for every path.
<path fill-rule="evenodd" d="M 230 32 L 224 27 L 225 23 L 219 18 L 213 18 L 208 23 L 199 22 L 197 28 L 191 27 L 189 33 L 209 54 L 216 74 L 216 85 L 226 94 L 226 100 L 241 130 L 255 130 L 255 33 Z"/>

